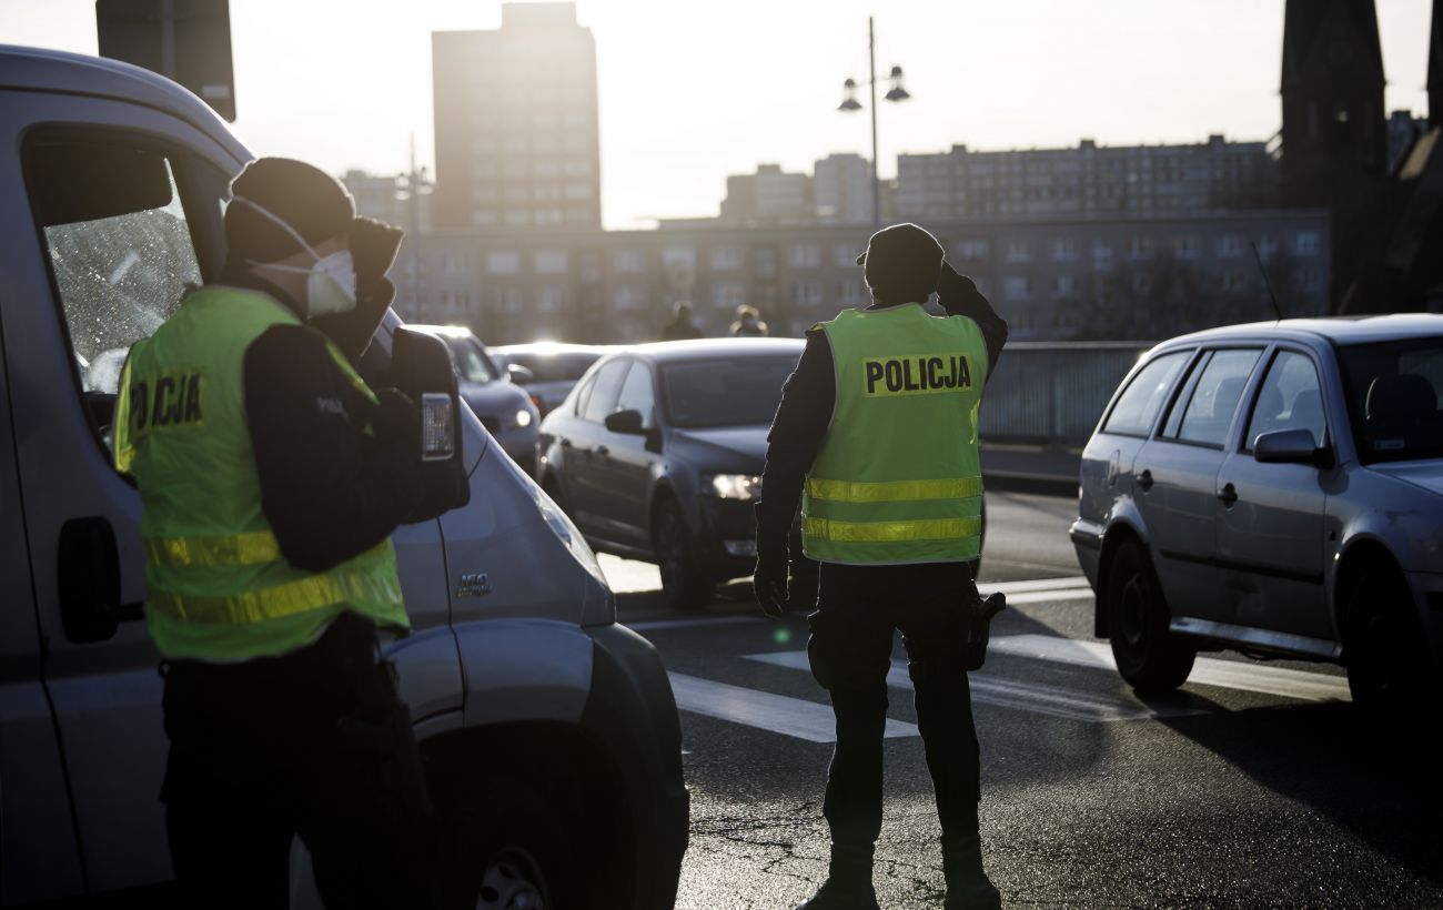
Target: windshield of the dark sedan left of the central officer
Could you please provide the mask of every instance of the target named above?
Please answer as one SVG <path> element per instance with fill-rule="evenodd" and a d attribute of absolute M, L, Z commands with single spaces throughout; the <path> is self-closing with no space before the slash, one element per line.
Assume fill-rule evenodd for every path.
<path fill-rule="evenodd" d="M 667 363 L 661 368 L 667 417 L 690 430 L 771 424 L 794 369 L 795 356 Z"/>

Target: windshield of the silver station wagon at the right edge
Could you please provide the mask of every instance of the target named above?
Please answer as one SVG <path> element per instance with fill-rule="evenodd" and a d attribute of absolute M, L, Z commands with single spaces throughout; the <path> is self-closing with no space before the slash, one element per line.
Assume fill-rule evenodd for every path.
<path fill-rule="evenodd" d="M 1364 464 L 1443 457 L 1443 337 L 1348 345 L 1339 358 Z"/>

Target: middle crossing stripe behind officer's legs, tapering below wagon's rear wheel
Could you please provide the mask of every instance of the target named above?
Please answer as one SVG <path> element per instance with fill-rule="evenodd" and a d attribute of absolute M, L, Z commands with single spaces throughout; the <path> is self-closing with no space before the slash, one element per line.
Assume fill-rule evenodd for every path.
<path fill-rule="evenodd" d="M 743 655 L 747 661 L 758 661 L 772 666 L 786 669 L 810 669 L 805 650 L 779 650 L 758 655 Z M 1128 697 L 1094 695 L 1075 689 L 1063 689 L 1053 685 L 1036 682 L 1022 682 L 1019 679 L 1003 679 L 990 673 L 970 673 L 968 684 L 973 701 L 978 704 L 1013 708 L 1017 711 L 1032 711 L 1075 721 L 1094 724 L 1110 721 L 1154 720 L 1159 717 L 1185 717 L 1192 714 L 1206 714 L 1202 708 L 1186 708 L 1180 705 L 1150 707 Z M 895 689 L 912 691 L 912 676 L 908 673 L 906 661 L 892 661 L 887 671 L 887 685 Z"/>

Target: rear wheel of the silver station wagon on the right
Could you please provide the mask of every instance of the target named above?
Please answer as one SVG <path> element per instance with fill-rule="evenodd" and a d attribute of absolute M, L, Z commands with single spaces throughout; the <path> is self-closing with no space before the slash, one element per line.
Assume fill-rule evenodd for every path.
<path fill-rule="evenodd" d="M 1124 541 L 1107 573 L 1108 632 L 1117 671 L 1139 692 L 1166 692 L 1188 681 L 1198 649 L 1167 630 L 1167 606 L 1147 551 Z"/>

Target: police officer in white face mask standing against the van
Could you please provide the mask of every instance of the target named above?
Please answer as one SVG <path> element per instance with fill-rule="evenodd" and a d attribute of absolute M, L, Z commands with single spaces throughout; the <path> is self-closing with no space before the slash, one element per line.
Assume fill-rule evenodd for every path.
<path fill-rule="evenodd" d="M 408 627 L 390 534 L 420 500 L 420 424 L 352 365 L 401 232 L 302 162 L 251 162 L 231 190 L 221 280 L 131 348 L 115 421 L 175 873 L 188 906 L 287 907 L 299 835 L 328 907 L 424 907 L 429 806 L 377 639 Z"/>

